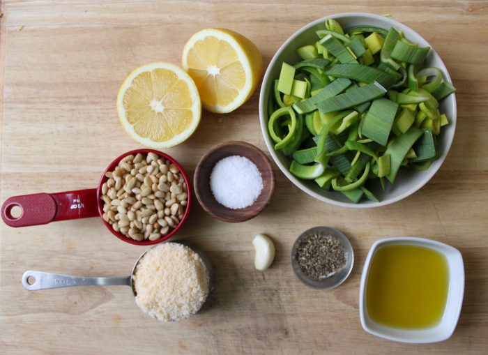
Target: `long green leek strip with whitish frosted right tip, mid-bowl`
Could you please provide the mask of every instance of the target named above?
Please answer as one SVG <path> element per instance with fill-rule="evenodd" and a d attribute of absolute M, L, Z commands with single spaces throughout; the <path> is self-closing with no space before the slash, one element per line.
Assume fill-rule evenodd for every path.
<path fill-rule="evenodd" d="M 374 100 L 385 95 L 386 89 L 378 82 L 361 86 L 360 88 L 341 93 L 340 95 L 327 98 L 317 103 L 317 108 L 323 114 L 327 112 L 338 111 L 340 109 L 347 109 L 365 103 L 366 101 Z"/>

